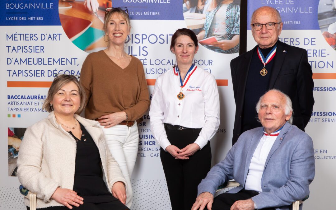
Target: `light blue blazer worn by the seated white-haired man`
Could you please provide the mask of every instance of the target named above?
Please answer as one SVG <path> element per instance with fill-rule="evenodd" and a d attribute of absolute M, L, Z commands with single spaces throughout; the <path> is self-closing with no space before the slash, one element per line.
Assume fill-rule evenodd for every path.
<path fill-rule="evenodd" d="M 210 192 L 235 179 L 240 186 L 228 193 L 238 193 L 244 188 L 253 153 L 263 134 L 263 127 L 244 132 L 227 153 L 198 185 L 198 194 Z M 258 209 L 273 207 L 289 209 L 296 200 L 309 195 L 308 185 L 315 175 L 315 160 L 312 139 L 295 125 L 285 123 L 266 159 L 261 178 L 262 193 L 252 197 Z M 300 205 L 302 208 L 302 205 Z"/>

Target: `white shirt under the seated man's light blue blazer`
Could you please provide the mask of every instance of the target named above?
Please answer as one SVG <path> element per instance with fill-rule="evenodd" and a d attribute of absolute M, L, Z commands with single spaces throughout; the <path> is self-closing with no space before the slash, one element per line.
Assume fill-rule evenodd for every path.
<path fill-rule="evenodd" d="M 264 135 L 261 137 L 251 159 L 245 182 L 245 190 L 254 190 L 259 193 L 262 192 L 261 178 L 264 172 L 266 159 L 280 131 L 281 130 L 278 130 L 269 135 L 264 131 Z"/>

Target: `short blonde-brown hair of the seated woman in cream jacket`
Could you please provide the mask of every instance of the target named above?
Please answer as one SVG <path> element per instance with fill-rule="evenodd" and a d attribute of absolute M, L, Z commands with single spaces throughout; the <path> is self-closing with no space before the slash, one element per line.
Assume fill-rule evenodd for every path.
<path fill-rule="evenodd" d="M 54 95 L 57 93 L 59 89 L 61 89 L 64 85 L 68 84 L 69 82 L 73 82 L 77 85 L 79 91 L 79 98 L 80 98 L 80 107 L 75 114 L 80 114 L 85 108 L 85 100 L 86 94 L 83 86 L 78 82 L 77 78 L 73 75 L 66 75 L 61 74 L 55 77 L 54 81 L 51 83 L 51 86 L 48 90 L 47 98 L 44 100 L 42 108 L 47 112 L 52 112 L 54 110 L 53 106 L 50 106 Z"/>

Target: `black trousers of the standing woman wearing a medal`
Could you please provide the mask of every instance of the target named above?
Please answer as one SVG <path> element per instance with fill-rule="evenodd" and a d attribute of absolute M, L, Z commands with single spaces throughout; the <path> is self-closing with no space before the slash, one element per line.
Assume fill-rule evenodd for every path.
<path fill-rule="evenodd" d="M 168 140 L 179 149 L 194 143 L 200 129 L 166 130 Z M 166 176 L 172 210 L 190 210 L 197 197 L 197 186 L 211 167 L 210 142 L 188 160 L 175 159 L 161 148 L 160 158 Z"/>

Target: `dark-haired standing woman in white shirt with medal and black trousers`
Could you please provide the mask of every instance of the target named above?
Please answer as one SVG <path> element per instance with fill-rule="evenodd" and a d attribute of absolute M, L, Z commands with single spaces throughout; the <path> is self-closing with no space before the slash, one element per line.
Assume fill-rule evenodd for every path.
<path fill-rule="evenodd" d="M 193 31 L 178 29 L 170 50 L 177 66 L 157 78 L 149 115 L 172 209 L 191 209 L 211 166 L 209 140 L 219 127 L 219 95 L 214 76 L 193 64 L 198 51 Z"/>

